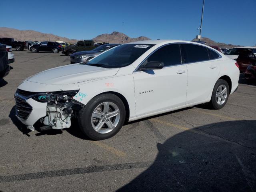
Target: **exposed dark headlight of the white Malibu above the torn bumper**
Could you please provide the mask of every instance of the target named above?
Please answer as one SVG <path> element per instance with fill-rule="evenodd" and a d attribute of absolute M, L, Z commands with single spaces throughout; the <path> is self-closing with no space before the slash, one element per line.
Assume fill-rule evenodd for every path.
<path fill-rule="evenodd" d="M 32 96 L 32 99 L 41 103 L 69 102 L 78 93 L 78 91 L 79 90 L 39 93 Z"/>

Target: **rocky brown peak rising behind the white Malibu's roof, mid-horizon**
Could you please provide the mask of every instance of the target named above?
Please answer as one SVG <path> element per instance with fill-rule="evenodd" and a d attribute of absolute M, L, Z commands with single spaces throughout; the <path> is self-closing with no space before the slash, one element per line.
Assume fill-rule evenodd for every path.
<path fill-rule="evenodd" d="M 111 34 L 102 34 L 93 38 L 95 42 L 109 42 L 109 43 L 130 43 L 134 41 L 150 40 L 150 38 L 140 36 L 137 38 L 130 38 L 126 34 L 114 31 Z"/>

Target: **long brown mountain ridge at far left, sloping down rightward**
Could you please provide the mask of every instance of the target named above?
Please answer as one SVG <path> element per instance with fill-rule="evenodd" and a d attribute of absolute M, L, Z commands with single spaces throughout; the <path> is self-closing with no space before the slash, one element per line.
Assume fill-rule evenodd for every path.
<path fill-rule="evenodd" d="M 8 38 L 14 38 L 16 40 L 20 41 L 64 41 L 64 42 L 70 42 L 74 43 L 77 42 L 76 39 L 69 39 L 66 37 L 60 37 L 54 34 L 49 33 L 41 33 L 34 30 L 18 30 L 18 29 L 12 29 L 7 27 L 0 27 L 0 37 L 8 37 Z"/>

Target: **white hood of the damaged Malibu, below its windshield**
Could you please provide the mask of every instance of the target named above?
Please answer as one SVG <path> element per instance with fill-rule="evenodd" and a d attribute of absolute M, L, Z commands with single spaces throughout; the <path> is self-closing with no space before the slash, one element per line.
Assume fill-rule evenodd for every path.
<path fill-rule="evenodd" d="M 42 84 L 73 84 L 98 78 L 114 76 L 119 68 L 102 68 L 83 64 L 71 64 L 52 68 L 27 80 Z"/>

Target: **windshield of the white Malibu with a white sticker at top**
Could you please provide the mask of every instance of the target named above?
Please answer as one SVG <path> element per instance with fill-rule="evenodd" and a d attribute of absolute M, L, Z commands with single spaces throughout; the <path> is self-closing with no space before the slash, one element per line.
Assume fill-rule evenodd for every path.
<path fill-rule="evenodd" d="M 116 46 L 96 58 L 81 64 L 99 66 L 104 68 L 120 68 L 132 64 L 147 50 L 152 48 L 153 44 L 124 44 Z"/>

